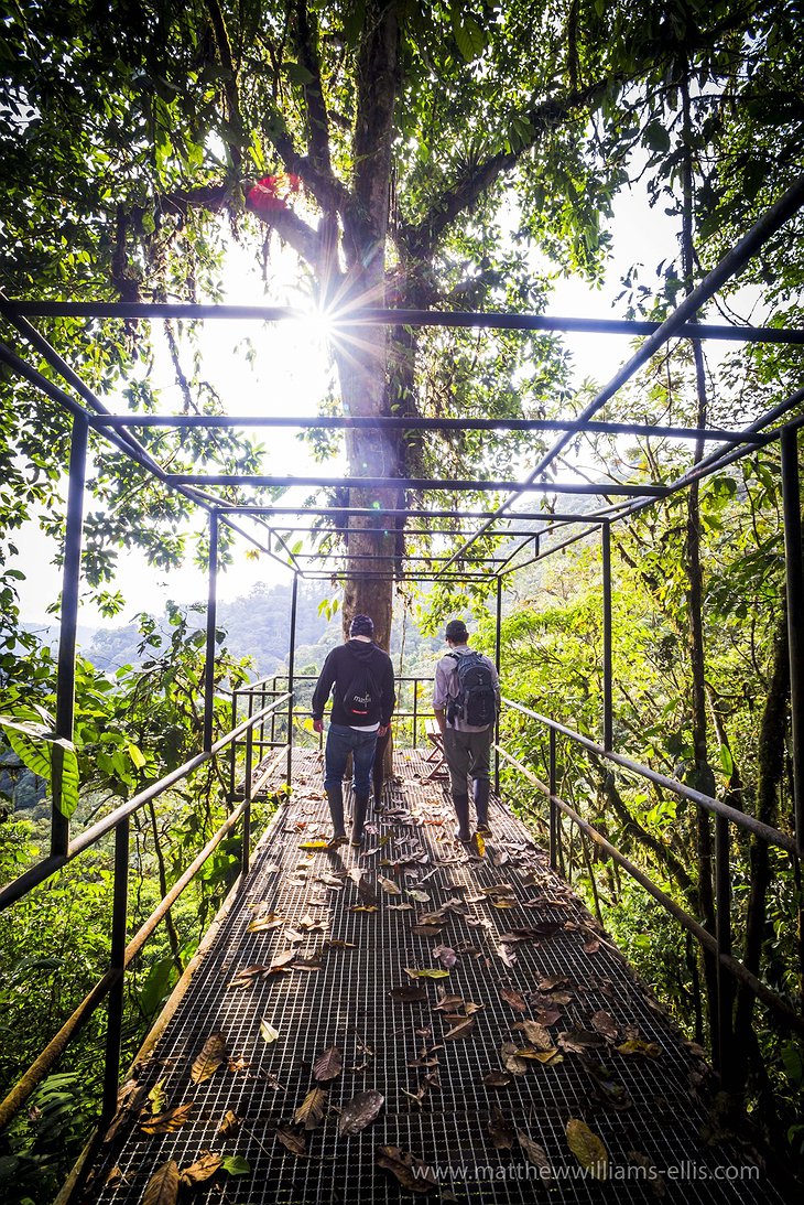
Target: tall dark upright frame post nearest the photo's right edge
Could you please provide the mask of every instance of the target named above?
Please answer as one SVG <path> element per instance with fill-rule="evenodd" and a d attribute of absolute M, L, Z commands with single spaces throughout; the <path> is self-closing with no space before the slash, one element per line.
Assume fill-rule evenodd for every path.
<path fill-rule="evenodd" d="M 804 549 L 802 547 L 798 430 L 790 427 L 784 427 L 781 431 L 781 487 L 785 516 L 793 815 L 796 817 L 796 845 L 800 857 L 804 853 Z"/>

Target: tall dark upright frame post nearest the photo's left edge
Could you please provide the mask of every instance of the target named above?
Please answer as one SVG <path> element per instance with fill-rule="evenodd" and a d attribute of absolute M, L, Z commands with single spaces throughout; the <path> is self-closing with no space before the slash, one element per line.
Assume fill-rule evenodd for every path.
<path fill-rule="evenodd" d="M 87 480 L 87 441 L 89 424 L 81 415 L 72 421 L 70 443 L 70 481 L 67 486 L 67 522 L 61 581 L 61 630 L 59 635 L 55 731 L 72 740 L 76 710 L 76 631 L 78 627 L 78 589 L 81 582 L 81 543 L 84 525 L 84 483 Z M 51 804 L 51 857 L 70 847 L 70 821 L 64 815 L 64 750 L 53 745 L 53 784 Z"/>

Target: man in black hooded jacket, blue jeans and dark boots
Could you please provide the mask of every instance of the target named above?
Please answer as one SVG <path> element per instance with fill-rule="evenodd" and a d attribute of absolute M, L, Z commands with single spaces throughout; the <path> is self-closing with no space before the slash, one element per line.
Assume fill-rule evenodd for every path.
<path fill-rule="evenodd" d="M 347 840 L 343 771 L 349 753 L 354 766 L 355 797 L 351 844 L 362 845 L 377 737 L 388 734 L 396 704 L 391 658 L 373 642 L 373 621 L 367 615 L 356 615 L 349 627 L 350 639 L 327 656 L 313 692 L 313 729 L 323 733 L 324 707 L 335 688 L 324 753 L 324 789 L 332 817 L 332 850 Z"/>

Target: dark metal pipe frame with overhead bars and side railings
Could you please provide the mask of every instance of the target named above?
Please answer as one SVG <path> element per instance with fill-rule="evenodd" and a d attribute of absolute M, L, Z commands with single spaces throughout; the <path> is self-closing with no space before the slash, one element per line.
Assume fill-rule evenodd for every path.
<path fill-rule="evenodd" d="M 360 517 L 377 517 L 377 511 L 372 507 L 338 505 L 337 509 L 308 507 L 306 505 L 274 505 L 242 502 L 230 502 L 220 496 L 208 493 L 223 486 L 291 486 L 311 484 L 318 488 L 342 487 L 365 489 L 390 489 L 406 490 L 415 489 L 422 494 L 430 490 L 450 490 L 455 494 L 466 492 L 504 492 L 507 498 L 496 509 L 483 511 L 468 510 L 428 510 L 424 506 L 383 511 L 383 518 L 392 521 L 421 521 L 422 523 L 433 519 L 457 521 L 459 527 L 447 527 L 444 534 L 460 535 L 463 542 L 451 553 L 430 559 L 428 568 L 414 568 L 413 562 L 400 559 L 396 562 L 391 574 L 383 569 L 370 570 L 361 574 L 361 577 L 376 577 L 377 580 L 396 581 L 493 581 L 496 584 L 496 656 L 499 663 L 501 653 L 501 617 L 502 598 L 506 578 L 536 560 L 566 548 L 578 540 L 585 539 L 599 531 L 602 540 L 602 564 L 603 564 L 603 700 L 602 700 L 602 745 L 597 745 L 578 733 L 567 729 L 555 721 L 538 716 L 520 705 L 512 704 L 520 712 L 533 721 L 546 725 L 550 734 L 550 782 L 540 783 L 530 774 L 526 766 L 520 765 L 520 771 L 530 780 L 534 781 L 550 801 L 550 850 L 554 864 L 557 859 L 557 842 L 560 836 L 558 813 L 568 815 L 572 821 L 579 824 L 592 835 L 593 840 L 603 844 L 604 848 L 616 857 L 622 865 L 623 859 L 619 851 L 614 851 L 608 842 L 595 834 L 586 823 L 558 798 L 556 793 L 556 736 L 572 740 L 593 752 L 596 756 L 616 763 L 632 772 L 638 772 L 644 777 L 660 782 L 664 789 L 669 789 L 691 800 L 696 806 L 713 812 L 723 822 L 719 828 L 719 840 L 716 842 L 716 877 L 717 877 L 717 901 L 719 916 L 726 909 L 728 911 L 731 900 L 729 868 L 728 868 L 728 829 L 726 823 L 733 823 L 740 828 L 753 833 L 762 840 L 767 840 L 785 850 L 793 858 L 799 858 L 804 847 L 804 568 L 802 558 L 802 499 L 798 472 L 798 430 L 804 423 L 800 413 L 804 402 L 804 389 L 799 389 L 790 398 L 782 400 L 773 410 L 763 415 L 757 422 L 744 430 L 722 430 L 717 428 L 684 428 L 661 427 L 650 424 L 631 424 L 622 422 L 599 421 L 595 416 L 610 401 L 615 394 L 633 378 L 634 374 L 644 366 L 650 358 L 660 351 L 668 340 L 707 340 L 719 339 L 740 342 L 774 342 L 802 346 L 804 333 L 800 330 L 781 330 L 767 327 L 711 327 L 699 324 L 697 315 L 700 307 L 714 296 L 717 289 L 728 280 L 734 277 L 747 260 L 755 255 L 761 247 L 770 239 L 782 224 L 804 205 L 804 177 L 799 178 L 785 196 L 765 213 L 755 227 L 744 236 L 738 246 L 731 251 L 711 271 L 702 283 L 678 306 L 678 308 L 661 324 L 655 323 L 625 323 L 608 321 L 579 321 L 564 318 L 544 318 L 540 316 L 522 315 L 489 315 L 489 313 L 439 313 L 430 311 L 403 311 L 403 310 L 377 310 L 350 313 L 348 325 L 350 329 L 361 323 L 379 323 L 390 327 L 398 325 L 441 325 L 454 328 L 489 328 L 506 330 L 573 330 L 587 333 L 617 334 L 631 336 L 645 336 L 645 341 L 631 357 L 623 368 L 615 374 L 611 381 L 598 392 L 585 408 L 574 418 L 567 421 L 546 419 L 412 419 L 412 418 L 380 418 L 366 419 L 350 416 L 337 418 L 297 418 L 286 417 L 253 417 L 253 416 L 173 416 L 173 415 L 111 415 L 100 398 L 81 381 L 70 365 L 55 352 L 47 340 L 31 325 L 34 317 L 87 317 L 87 318 L 124 318 L 126 321 L 143 321 L 154 318 L 182 317 L 193 319 L 229 319 L 229 321 L 284 321 L 292 318 L 294 313 L 277 308 L 255 308 L 238 306 L 188 306 L 188 305 L 130 305 L 130 304 L 94 304 L 94 302 L 20 302 L 13 301 L 0 294 L 0 312 L 7 323 L 16 328 L 28 345 L 39 353 L 49 366 L 61 377 L 66 388 L 55 384 L 42 372 L 28 364 L 12 348 L 0 343 L 0 362 L 17 376 L 41 389 L 48 398 L 66 407 L 73 416 L 72 446 L 70 454 L 70 482 L 67 495 L 67 522 L 65 536 L 65 560 L 64 560 L 64 590 L 61 601 L 61 639 L 59 645 L 58 663 L 58 711 L 57 711 L 57 735 L 70 740 L 73 730 L 73 694 L 75 694 L 75 651 L 76 651 L 76 624 L 78 615 L 78 581 L 81 568 L 83 506 L 84 506 L 84 481 L 88 453 L 89 430 L 101 433 L 114 447 L 125 453 L 146 471 L 152 474 L 166 487 L 177 490 L 189 501 L 208 512 L 209 522 L 209 580 L 207 600 L 207 624 L 206 624 L 206 676 L 205 676 L 205 722 L 203 722 L 203 747 L 190 762 L 179 770 L 161 780 L 161 782 L 141 792 L 132 800 L 116 809 L 106 819 L 83 831 L 77 839 L 71 840 L 70 825 L 65 819 L 60 807 L 60 772 L 58 762 L 54 764 L 53 776 L 53 823 L 49 857 L 39 865 L 31 868 L 13 883 L 0 892 L 0 907 L 8 906 L 36 884 L 47 880 L 55 870 L 65 865 L 83 851 L 94 846 L 102 836 L 116 833 L 116 877 L 114 877 L 114 910 L 112 917 L 112 951 L 110 969 L 101 980 L 96 989 L 81 1005 L 73 1018 L 67 1022 L 63 1031 L 51 1042 L 47 1051 L 40 1056 L 37 1063 L 20 1081 L 6 1103 L 0 1106 L 0 1125 L 4 1124 L 13 1112 L 20 1106 L 32 1091 L 36 1082 L 45 1075 L 53 1064 L 66 1041 L 77 1031 L 87 1016 L 97 1006 L 100 1000 L 110 995 L 110 1019 L 108 1040 L 106 1052 L 106 1087 L 104 1093 L 104 1116 L 108 1118 L 114 1109 L 117 1093 L 117 1080 L 119 1072 L 120 1050 L 120 1019 L 122 1019 L 122 991 L 123 974 L 131 958 L 136 956 L 142 942 L 153 931 L 155 924 L 164 917 L 172 901 L 183 889 L 209 856 L 214 845 L 221 840 L 238 819 L 243 823 L 243 871 L 248 868 L 248 844 L 249 844 L 249 810 L 253 792 L 252 769 L 254 758 L 254 733 L 258 725 L 262 724 L 267 716 L 276 717 L 280 709 L 286 705 L 288 716 L 288 741 L 286 746 L 280 746 L 276 753 L 274 762 L 284 757 L 286 751 L 288 774 L 290 774 L 290 759 L 292 753 L 292 699 L 294 699 L 294 674 L 295 674 L 295 647 L 296 647 L 296 609 L 297 588 L 300 578 L 303 580 L 341 580 L 348 576 L 349 570 L 339 564 L 333 564 L 332 553 L 306 554 L 305 560 L 312 560 L 313 565 L 301 563 L 298 556 L 290 552 L 286 543 L 286 535 L 307 530 L 307 519 L 311 515 L 320 518 L 329 517 L 331 524 L 321 530 L 332 535 L 348 529 L 349 519 Z M 71 392 L 69 392 L 71 390 Z M 798 410 L 794 417 L 787 422 L 785 416 L 791 416 Z M 371 477 L 290 477 L 288 475 L 256 475 L 252 477 L 237 477 L 232 475 L 206 475 L 190 476 L 185 474 L 173 474 L 161 465 L 140 442 L 136 436 L 138 429 L 160 427 L 201 427 L 201 428 L 237 428 L 237 427 L 295 427 L 298 429 L 326 428 L 331 430 L 343 430 L 347 428 L 380 427 L 386 430 L 398 430 L 400 428 L 410 430 L 447 431 L 450 429 L 473 429 L 493 431 L 554 431 L 557 439 L 549 451 L 544 453 L 531 472 L 522 481 L 479 481 L 462 480 L 410 480 Z M 697 445 L 715 442 L 717 446 L 703 459 L 698 460 L 692 469 L 679 476 L 676 480 L 664 484 L 635 484 L 628 482 L 617 483 L 581 483 L 581 482 L 555 482 L 549 480 L 548 471 L 568 445 L 571 439 L 579 433 L 608 433 L 629 434 L 645 437 L 672 437 L 678 440 L 690 440 Z M 796 836 L 791 839 L 784 833 L 768 829 L 750 817 L 744 816 L 733 809 L 726 807 L 719 800 L 693 792 L 682 783 L 656 775 L 645 766 L 629 762 L 614 751 L 614 710 L 613 710 L 613 648 L 611 648 L 611 563 L 610 563 L 610 529 L 611 524 L 629 515 L 634 515 L 645 506 L 654 505 L 658 499 L 690 486 L 693 481 L 710 476 L 738 458 L 751 453 L 770 441 L 779 440 L 781 445 L 781 468 L 784 487 L 784 519 L 785 519 L 785 552 L 787 574 L 787 617 L 791 663 L 791 687 L 792 687 L 792 754 L 793 754 L 793 780 L 794 780 L 794 816 Z M 201 488 L 203 487 L 203 488 Z M 527 493 L 549 494 L 587 494 L 604 499 L 603 505 L 597 505 L 586 512 L 558 512 L 548 513 L 532 507 L 521 509 L 518 504 L 522 495 Z M 611 499 L 616 499 L 611 501 Z M 285 522 L 290 519 L 291 522 Z M 301 521 L 305 521 L 303 523 Z M 246 521 L 247 527 L 243 527 Z M 471 525 L 477 521 L 475 525 Z M 289 617 L 290 642 L 289 642 L 289 668 L 288 690 L 277 696 L 271 694 L 271 701 L 266 703 L 264 683 L 255 684 L 254 689 L 262 690 L 262 698 L 258 706 L 254 698 L 249 701 L 248 717 L 237 723 L 236 715 L 232 719 L 232 729 L 221 739 L 215 740 L 213 733 L 213 703 L 214 703 L 214 651 L 215 651 L 215 621 L 217 621 L 217 577 L 218 577 L 218 539 L 220 525 L 225 524 L 233 533 L 240 534 L 255 547 L 265 552 L 273 559 L 279 560 L 292 572 L 292 598 Z M 248 524 L 254 524 L 249 527 Z M 467 524 L 467 525 L 465 525 Z M 548 537 L 557 534 L 561 536 L 564 528 L 572 528 L 572 534 L 557 540 Z M 432 530 L 432 529 L 428 529 Z M 507 549 L 504 558 L 489 558 L 475 549 L 478 541 L 485 536 L 503 536 L 514 542 L 513 551 Z M 280 549 L 280 552 L 277 551 Z M 280 554 L 283 553 L 283 554 Z M 527 559 L 525 558 L 527 556 Z M 286 560 L 285 560 L 286 558 Z M 389 558 L 383 558 L 388 562 Z M 258 743 L 262 748 L 266 743 L 264 731 L 258 737 Z M 199 854 L 193 866 L 188 869 L 179 883 L 171 890 L 170 895 L 159 906 L 154 916 L 146 923 L 140 934 L 126 945 L 126 892 L 128 892 L 128 859 L 129 859 L 129 817 L 150 799 L 161 794 L 171 786 L 179 782 L 194 769 L 212 757 L 215 757 L 224 747 L 243 739 L 246 740 L 246 787 L 244 798 L 231 813 L 223 828 L 213 837 L 205 851 Z M 504 750 L 498 748 L 503 759 L 510 760 Z M 499 763 L 497 763 L 498 784 Z M 231 794 L 235 798 L 233 763 L 232 777 L 230 780 Z M 725 834 L 725 835 L 723 835 Z M 643 883 L 645 876 L 637 868 L 628 866 L 629 872 Z M 642 877 L 640 877 L 642 876 Z M 648 881 L 649 882 L 649 881 Z M 648 888 L 651 889 L 651 888 Z M 657 889 L 656 889 L 657 890 Z M 654 890 L 654 895 L 656 895 Z M 660 893 L 661 894 L 661 893 Z M 658 898 L 658 897 L 656 897 Z M 673 904 L 673 901 L 669 901 Z M 667 906 L 667 904 L 666 904 Z M 741 983 L 749 986 L 764 1003 L 775 1007 L 776 1012 L 802 1031 L 800 1017 L 792 1013 L 784 1000 L 769 992 L 758 980 L 749 976 L 741 964 L 732 954 L 731 937 L 727 918 L 719 925 L 717 934 L 713 935 L 704 930 L 693 918 L 679 916 L 680 910 L 673 905 L 670 911 L 681 919 L 698 940 L 713 950 L 719 959 L 719 965 L 726 968 Z M 752 981 L 751 981 L 752 980 Z M 772 999 L 773 998 L 773 999 Z M 792 1018 L 792 1019 L 791 1019 Z M 721 1018 L 722 1021 L 722 1018 Z M 716 1062 L 722 1066 L 727 1058 L 727 1035 L 722 1025 L 720 1031 L 720 1045 L 714 1051 Z"/>

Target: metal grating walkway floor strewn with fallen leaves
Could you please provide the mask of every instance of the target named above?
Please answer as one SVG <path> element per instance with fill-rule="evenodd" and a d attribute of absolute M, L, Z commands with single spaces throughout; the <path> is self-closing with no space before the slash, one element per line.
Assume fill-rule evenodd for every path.
<path fill-rule="evenodd" d="M 412 1187 L 378 1166 L 382 1146 L 409 1151 L 434 1169 L 432 1200 L 781 1200 L 734 1142 L 707 1145 L 702 1134 L 713 1127 L 696 1091 L 707 1077 L 704 1065 L 518 819 L 492 803 L 495 836 L 483 858 L 467 856 L 451 839 L 444 787 L 424 781 L 430 764 L 420 753 L 397 753 L 400 778 L 386 786 L 391 809 L 370 817 L 365 852 L 344 846 L 308 853 L 300 845 L 329 833 L 319 757 L 296 754 L 292 798 L 260 842 L 248 882 L 141 1064 L 136 1092 L 131 1097 L 129 1089 L 129 1106 L 83 1200 L 138 1205 L 156 1169 L 171 1159 L 185 1169 L 205 1151 L 240 1157 L 248 1170 L 219 1171 L 194 1199 L 230 1205 L 415 1199 Z M 389 893 L 378 875 L 402 894 Z M 422 915 L 450 900 L 437 928 L 412 931 Z M 402 904 L 413 907 L 400 910 Z M 284 923 L 249 931 L 267 913 Z M 457 956 L 448 977 L 406 974 L 404 968 L 443 969 L 433 957 L 439 946 Z M 231 986 L 238 971 L 268 966 L 290 950 L 312 965 L 288 963 L 248 986 Z M 424 1001 L 389 995 L 416 986 Z M 444 1040 L 459 1022 L 433 1011 L 439 991 L 481 1005 L 474 1024 L 461 1030 L 465 1036 Z M 509 1057 L 501 1053 L 504 1044 L 539 1046 L 512 1027 L 539 1019 L 562 1060 L 532 1057 L 501 1077 Z M 261 1035 L 264 1021 L 278 1031 L 274 1041 Z M 223 1034 L 226 1060 L 194 1083 L 193 1063 L 213 1033 Z M 538 1038 L 536 1030 L 530 1036 L 534 1033 Z M 617 1050 L 628 1042 L 656 1050 Z M 313 1063 L 333 1046 L 343 1070 L 319 1083 L 327 1093 L 324 1116 L 311 1130 L 294 1127 L 295 1111 L 315 1087 Z M 492 1087 L 484 1082 L 489 1072 L 509 1082 Z M 162 1115 L 191 1106 L 178 1128 L 147 1135 L 146 1094 L 159 1082 Z M 367 1089 L 384 1097 L 379 1116 L 362 1131 L 339 1136 L 338 1110 Z M 237 1121 L 224 1136 L 220 1125 L 230 1110 Z M 571 1118 L 603 1141 L 605 1182 L 584 1174 L 569 1150 Z M 533 1162 L 538 1153 L 520 1144 L 512 1124 L 543 1147 L 550 1186 Z"/>

